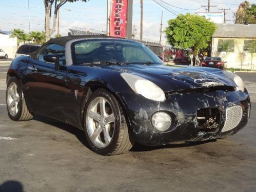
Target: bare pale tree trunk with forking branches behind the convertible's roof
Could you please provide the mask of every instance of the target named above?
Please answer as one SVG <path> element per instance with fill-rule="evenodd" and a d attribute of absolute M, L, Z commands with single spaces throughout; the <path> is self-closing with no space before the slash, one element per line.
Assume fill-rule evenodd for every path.
<path fill-rule="evenodd" d="M 46 41 L 50 39 L 52 33 L 55 32 L 57 13 L 60 8 L 67 2 L 87 2 L 89 0 L 44 0 L 45 4 L 45 38 Z M 52 14 L 53 7 L 53 14 Z M 51 18 L 53 17 L 52 27 L 50 27 Z"/>

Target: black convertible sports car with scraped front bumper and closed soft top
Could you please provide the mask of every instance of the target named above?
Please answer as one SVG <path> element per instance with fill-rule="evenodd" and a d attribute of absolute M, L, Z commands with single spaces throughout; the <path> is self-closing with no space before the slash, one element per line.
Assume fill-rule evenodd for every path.
<path fill-rule="evenodd" d="M 43 115 L 84 130 L 102 155 L 128 151 L 135 141 L 162 145 L 237 133 L 250 116 L 242 79 L 222 70 L 167 67 L 128 39 L 68 36 L 49 40 L 8 70 L 12 120 Z"/>

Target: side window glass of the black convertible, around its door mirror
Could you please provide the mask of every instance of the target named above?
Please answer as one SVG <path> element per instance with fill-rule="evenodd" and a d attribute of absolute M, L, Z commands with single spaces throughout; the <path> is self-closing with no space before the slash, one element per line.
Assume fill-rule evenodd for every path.
<path fill-rule="evenodd" d="M 51 44 L 45 47 L 38 55 L 38 60 L 46 62 L 44 60 L 45 55 L 57 55 L 61 66 L 66 66 L 65 47 L 57 44 Z"/>

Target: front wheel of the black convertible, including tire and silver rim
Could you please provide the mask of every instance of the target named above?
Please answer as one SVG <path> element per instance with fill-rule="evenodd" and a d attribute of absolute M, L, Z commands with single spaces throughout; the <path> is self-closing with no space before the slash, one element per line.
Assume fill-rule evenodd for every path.
<path fill-rule="evenodd" d="M 134 144 L 121 105 L 104 89 L 93 92 L 86 102 L 84 121 L 86 138 L 97 154 L 119 155 Z"/>

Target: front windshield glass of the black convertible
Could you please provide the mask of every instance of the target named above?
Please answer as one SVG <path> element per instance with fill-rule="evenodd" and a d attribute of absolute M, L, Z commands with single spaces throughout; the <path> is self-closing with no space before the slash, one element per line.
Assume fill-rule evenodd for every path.
<path fill-rule="evenodd" d="M 145 45 L 131 40 L 76 41 L 71 48 L 75 65 L 84 63 L 163 63 Z"/>

